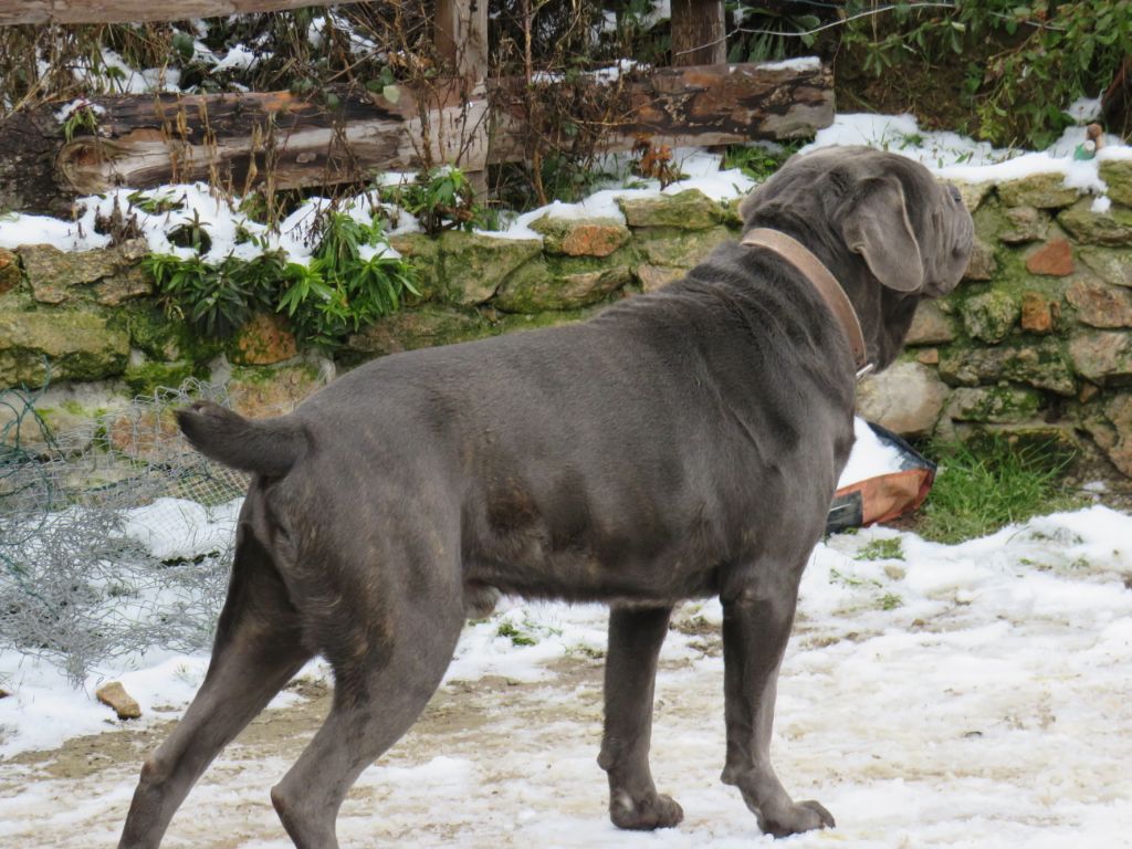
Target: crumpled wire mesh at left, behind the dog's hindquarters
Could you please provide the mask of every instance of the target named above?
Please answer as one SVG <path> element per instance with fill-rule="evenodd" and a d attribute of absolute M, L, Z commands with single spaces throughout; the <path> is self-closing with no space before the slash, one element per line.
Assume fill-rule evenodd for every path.
<path fill-rule="evenodd" d="M 60 435 L 40 394 L 0 392 L 0 650 L 78 684 L 145 649 L 207 645 L 248 481 L 194 452 L 173 411 L 226 391 L 190 379 Z"/>

